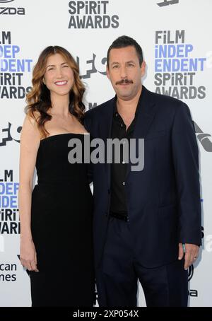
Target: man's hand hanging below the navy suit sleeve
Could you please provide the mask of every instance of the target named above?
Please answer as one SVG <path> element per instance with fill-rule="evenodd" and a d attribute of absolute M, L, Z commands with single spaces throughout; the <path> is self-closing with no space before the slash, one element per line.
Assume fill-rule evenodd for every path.
<path fill-rule="evenodd" d="M 182 243 L 179 243 L 178 259 L 182 259 L 184 255 L 184 269 L 188 269 L 188 267 L 196 261 L 199 255 L 199 246 L 195 244 L 185 243 L 184 247 L 185 247 L 185 255 L 184 255 Z"/>

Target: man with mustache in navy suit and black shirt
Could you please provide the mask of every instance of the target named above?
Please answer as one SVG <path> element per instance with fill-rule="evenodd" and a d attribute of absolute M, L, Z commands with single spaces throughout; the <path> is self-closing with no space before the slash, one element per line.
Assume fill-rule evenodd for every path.
<path fill-rule="evenodd" d="M 201 245 L 198 147 L 189 108 L 142 86 L 145 67 L 134 39 L 114 40 L 107 77 L 116 96 L 86 112 L 90 135 L 105 144 L 144 139 L 143 170 L 131 170 L 123 151 L 120 163 L 93 165 L 100 306 L 136 306 L 138 279 L 147 306 L 187 306 L 187 268 Z"/>

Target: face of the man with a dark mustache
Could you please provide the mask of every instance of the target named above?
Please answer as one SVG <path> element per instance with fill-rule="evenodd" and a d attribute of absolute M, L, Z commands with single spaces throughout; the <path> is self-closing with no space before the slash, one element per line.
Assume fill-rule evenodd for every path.
<path fill-rule="evenodd" d="M 110 79 L 118 98 L 131 100 L 139 93 L 145 67 L 145 62 L 139 65 L 134 46 L 110 50 L 107 78 Z"/>

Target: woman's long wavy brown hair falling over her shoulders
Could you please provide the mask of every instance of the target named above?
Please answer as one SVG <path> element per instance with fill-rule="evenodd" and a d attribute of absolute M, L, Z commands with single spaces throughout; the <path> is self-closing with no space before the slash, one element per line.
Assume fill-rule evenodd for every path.
<path fill-rule="evenodd" d="M 61 54 L 73 70 L 74 81 L 73 87 L 69 93 L 69 112 L 76 116 L 76 118 L 81 122 L 85 110 L 85 106 L 82 101 L 85 87 L 79 77 L 79 69 L 75 60 L 63 47 L 49 46 L 45 48 L 41 52 L 40 57 L 37 60 L 37 64 L 35 64 L 33 69 L 33 89 L 26 96 L 26 102 L 28 105 L 25 108 L 25 112 L 29 116 L 33 117 L 37 122 L 37 128 L 42 137 L 46 137 L 49 134 L 47 129 L 45 129 L 45 122 L 52 119 L 52 116 L 47 113 L 49 108 L 52 107 L 50 91 L 43 83 L 47 59 L 52 54 Z M 38 112 L 38 117 L 35 115 L 35 112 Z"/>

